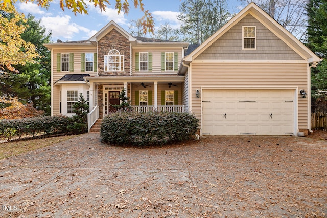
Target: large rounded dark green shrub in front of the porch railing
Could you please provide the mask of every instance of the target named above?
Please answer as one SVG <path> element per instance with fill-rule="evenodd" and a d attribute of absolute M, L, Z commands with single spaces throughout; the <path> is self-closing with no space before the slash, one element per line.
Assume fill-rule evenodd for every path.
<path fill-rule="evenodd" d="M 164 145 L 191 139 L 198 121 L 186 112 L 115 112 L 102 120 L 100 135 L 102 142 L 115 145 Z"/>

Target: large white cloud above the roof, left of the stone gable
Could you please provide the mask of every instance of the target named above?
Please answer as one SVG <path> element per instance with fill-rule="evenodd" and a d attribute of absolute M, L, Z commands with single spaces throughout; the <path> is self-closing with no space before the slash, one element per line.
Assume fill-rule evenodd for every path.
<path fill-rule="evenodd" d="M 89 30 L 85 27 L 79 26 L 76 23 L 71 23 L 71 17 L 68 15 L 64 16 L 55 16 L 55 17 L 42 17 L 41 25 L 44 26 L 48 31 L 52 31 L 52 38 L 54 40 L 69 40 L 74 37 L 75 34 L 84 32 L 87 38 L 94 35 L 97 31 Z M 86 39 L 86 38 L 84 38 Z M 82 38 L 78 39 L 82 40 Z"/>

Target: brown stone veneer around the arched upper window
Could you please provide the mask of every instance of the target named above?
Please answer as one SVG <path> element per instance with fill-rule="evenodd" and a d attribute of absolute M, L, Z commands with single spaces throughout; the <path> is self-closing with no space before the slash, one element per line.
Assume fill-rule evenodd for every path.
<path fill-rule="evenodd" d="M 124 55 L 124 72 L 104 72 L 104 55 L 112 49 L 118 50 Z M 117 30 L 111 30 L 107 35 L 98 41 L 98 75 L 130 75 L 130 41 Z"/>

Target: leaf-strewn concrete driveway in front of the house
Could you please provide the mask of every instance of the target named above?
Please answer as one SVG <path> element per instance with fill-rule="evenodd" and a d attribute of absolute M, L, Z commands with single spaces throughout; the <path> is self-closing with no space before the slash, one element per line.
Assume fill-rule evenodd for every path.
<path fill-rule="evenodd" d="M 0 160 L 0 216 L 327 217 L 326 141 L 207 136 L 141 149 L 83 134 Z"/>

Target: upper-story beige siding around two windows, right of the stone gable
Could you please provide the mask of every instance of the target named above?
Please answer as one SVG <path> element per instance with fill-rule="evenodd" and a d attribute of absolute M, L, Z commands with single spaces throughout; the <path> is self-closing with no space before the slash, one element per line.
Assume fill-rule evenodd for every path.
<path fill-rule="evenodd" d="M 136 52 L 152 52 L 152 71 L 136 71 L 135 70 L 135 53 Z M 177 74 L 177 71 L 161 71 L 161 52 L 178 52 L 178 64 L 182 60 L 182 48 L 136 48 L 132 54 L 132 72 L 133 74 Z"/>

